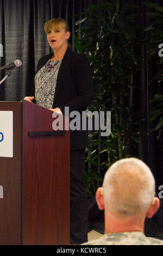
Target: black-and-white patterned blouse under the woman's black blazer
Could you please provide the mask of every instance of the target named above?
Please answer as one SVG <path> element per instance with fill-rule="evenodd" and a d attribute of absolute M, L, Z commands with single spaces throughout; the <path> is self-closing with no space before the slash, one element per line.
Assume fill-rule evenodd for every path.
<path fill-rule="evenodd" d="M 45 108 L 52 108 L 57 76 L 62 60 L 48 60 L 35 75 L 35 102 Z"/>

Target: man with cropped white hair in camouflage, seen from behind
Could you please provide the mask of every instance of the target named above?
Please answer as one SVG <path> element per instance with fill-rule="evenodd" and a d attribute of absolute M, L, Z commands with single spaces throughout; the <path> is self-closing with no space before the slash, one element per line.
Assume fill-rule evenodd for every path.
<path fill-rule="evenodd" d="M 105 234 L 83 245 L 163 245 L 146 237 L 145 218 L 159 209 L 151 170 L 141 160 L 122 159 L 105 174 L 103 187 L 96 192 L 99 209 L 105 212 Z"/>

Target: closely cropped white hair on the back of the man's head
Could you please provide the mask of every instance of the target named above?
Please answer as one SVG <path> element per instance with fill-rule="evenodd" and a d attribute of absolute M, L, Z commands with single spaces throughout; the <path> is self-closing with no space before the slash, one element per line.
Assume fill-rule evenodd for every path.
<path fill-rule="evenodd" d="M 117 216 L 146 214 L 155 195 L 149 167 L 139 159 L 122 159 L 112 164 L 103 182 L 105 209 Z"/>

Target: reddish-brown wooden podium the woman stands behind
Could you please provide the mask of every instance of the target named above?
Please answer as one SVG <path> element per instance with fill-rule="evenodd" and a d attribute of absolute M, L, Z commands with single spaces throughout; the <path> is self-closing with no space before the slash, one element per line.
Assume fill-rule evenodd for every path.
<path fill-rule="evenodd" d="M 13 157 L 0 157 L 0 245 L 69 245 L 70 131 L 28 101 L 1 111 L 13 112 Z"/>

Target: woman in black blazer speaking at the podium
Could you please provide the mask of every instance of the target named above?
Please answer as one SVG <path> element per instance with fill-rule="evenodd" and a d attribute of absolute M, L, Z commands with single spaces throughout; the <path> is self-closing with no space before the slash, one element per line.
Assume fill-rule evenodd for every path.
<path fill-rule="evenodd" d="M 68 46 L 70 29 L 67 22 L 54 18 L 45 23 L 45 33 L 53 52 L 42 57 L 37 65 L 32 95 L 24 100 L 51 111 L 65 114 L 86 110 L 93 97 L 91 70 L 87 58 Z M 70 139 L 70 243 L 87 241 L 88 212 L 83 182 L 84 155 L 88 144 L 87 131 L 71 131 Z"/>

